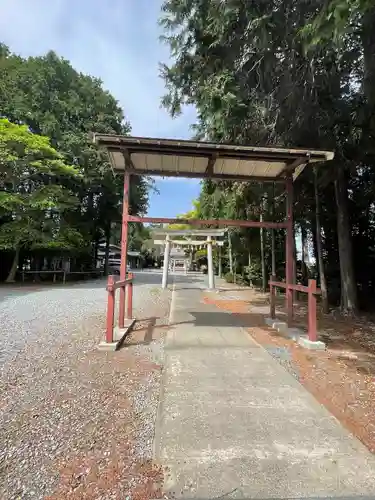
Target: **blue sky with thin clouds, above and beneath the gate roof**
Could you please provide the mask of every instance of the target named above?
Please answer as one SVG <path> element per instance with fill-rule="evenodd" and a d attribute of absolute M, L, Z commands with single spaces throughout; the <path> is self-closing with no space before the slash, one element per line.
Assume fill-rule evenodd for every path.
<path fill-rule="evenodd" d="M 99 77 L 124 109 L 132 134 L 187 139 L 195 111 L 172 120 L 160 109 L 164 83 L 159 62 L 161 0 L 1 0 L 0 40 L 23 56 L 54 50 L 83 73 Z M 149 215 L 173 217 L 191 208 L 195 180 L 157 181 Z"/>

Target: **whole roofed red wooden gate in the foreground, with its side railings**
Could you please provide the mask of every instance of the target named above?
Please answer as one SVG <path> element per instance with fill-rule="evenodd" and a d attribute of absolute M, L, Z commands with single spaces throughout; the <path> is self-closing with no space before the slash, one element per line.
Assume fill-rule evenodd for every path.
<path fill-rule="evenodd" d="M 293 318 L 293 289 L 298 288 L 301 290 L 301 286 L 293 283 L 293 181 L 307 164 L 332 160 L 334 157 L 333 152 L 238 146 L 107 134 L 93 134 L 93 142 L 108 151 L 111 166 L 114 170 L 124 171 L 120 281 L 116 285 L 113 285 L 113 279 L 111 278 L 108 286 L 112 290 L 112 294 L 114 294 L 115 288 L 120 288 L 120 328 L 124 327 L 125 289 L 128 286 L 130 291 L 132 289 L 131 279 L 126 279 L 129 222 L 162 224 L 177 222 L 191 225 L 209 224 L 216 226 L 286 229 L 286 282 L 277 283 L 274 281 L 275 277 L 272 277 L 271 291 L 275 286 L 281 286 L 286 289 L 287 323 L 290 325 Z M 283 183 L 286 187 L 286 218 L 284 222 L 260 222 L 225 219 L 182 220 L 133 216 L 129 214 L 129 185 L 131 175 Z M 306 290 L 301 291 L 306 292 L 307 287 L 305 288 Z M 129 297 L 129 300 L 131 304 L 131 297 Z M 274 306 L 271 304 L 271 315 L 272 308 Z M 108 326 L 107 321 L 106 341 L 112 343 L 114 303 L 113 306 L 108 306 L 108 309 L 111 309 L 111 311 L 110 313 L 107 311 L 107 319 L 108 316 L 112 315 L 112 327 Z M 127 316 L 129 315 L 131 315 L 131 308 L 129 309 L 128 307 Z M 109 331 L 110 329 L 112 331 Z"/>

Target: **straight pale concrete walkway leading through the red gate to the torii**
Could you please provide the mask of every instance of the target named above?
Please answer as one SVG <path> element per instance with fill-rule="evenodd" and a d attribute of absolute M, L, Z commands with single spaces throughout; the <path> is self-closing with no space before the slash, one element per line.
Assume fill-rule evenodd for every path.
<path fill-rule="evenodd" d="M 175 286 L 166 339 L 155 455 L 167 492 L 374 498 L 375 457 L 197 286 Z"/>

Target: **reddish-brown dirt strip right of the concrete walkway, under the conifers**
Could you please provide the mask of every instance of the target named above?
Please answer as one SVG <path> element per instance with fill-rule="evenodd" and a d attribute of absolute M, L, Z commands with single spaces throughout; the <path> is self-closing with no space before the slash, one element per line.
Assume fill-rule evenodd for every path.
<path fill-rule="evenodd" d="M 352 319 L 319 311 L 320 338 L 327 349 L 309 351 L 267 327 L 263 311 L 255 312 L 258 308 L 267 310 L 268 295 L 233 286 L 226 288 L 218 294 L 206 294 L 205 300 L 243 316 L 249 334 L 375 453 L 375 323 L 366 317 Z M 254 306 L 255 311 L 251 313 Z M 306 304 L 296 302 L 295 326 L 306 326 L 306 313 Z M 277 316 L 285 318 L 282 298 L 277 300 Z M 284 363 L 285 355 L 287 363 Z"/>

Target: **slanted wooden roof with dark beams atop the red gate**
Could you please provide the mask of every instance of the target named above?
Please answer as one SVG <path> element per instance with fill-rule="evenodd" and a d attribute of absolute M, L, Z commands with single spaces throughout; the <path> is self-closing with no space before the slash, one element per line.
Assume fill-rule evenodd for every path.
<path fill-rule="evenodd" d="M 238 146 L 175 139 L 94 134 L 112 167 L 132 174 L 259 182 L 294 178 L 308 163 L 332 160 L 331 151 Z"/>

